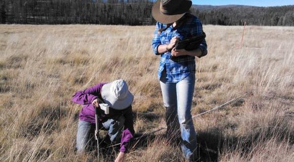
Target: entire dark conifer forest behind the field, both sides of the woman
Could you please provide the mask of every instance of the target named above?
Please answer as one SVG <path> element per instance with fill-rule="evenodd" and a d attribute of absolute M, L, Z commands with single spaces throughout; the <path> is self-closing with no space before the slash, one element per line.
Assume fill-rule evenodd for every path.
<path fill-rule="evenodd" d="M 147 0 L 1 0 L 0 23 L 154 25 L 152 6 Z M 294 5 L 193 5 L 191 12 L 203 24 L 294 26 Z"/>

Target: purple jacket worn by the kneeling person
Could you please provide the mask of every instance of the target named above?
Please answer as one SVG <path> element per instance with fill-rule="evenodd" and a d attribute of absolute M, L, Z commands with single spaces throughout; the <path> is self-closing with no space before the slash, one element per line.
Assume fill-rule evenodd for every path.
<path fill-rule="evenodd" d="M 106 83 L 99 83 L 96 86 L 90 87 L 84 91 L 78 91 L 75 95 L 72 96 L 72 102 L 84 105 L 80 114 L 79 119 L 82 121 L 88 121 L 92 124 L 95 124 L 95 109 L 92 105 L 93 100 L 101 97 L 101 89 L 102 86 Z M 127 152 L 127 146 L 129 141 L 134 137 L 134 122 L 132 115 L 132 107 L 128 107 L 124 110 L 115 110 L 109 109 L 109 114 L 105 114 L 103 110 L 99 109 L 99 120 L 107 120 L 109 117 L 113 115 L 124 115 L 125 124 L 124 130 L 122 132 L 122 140 L 121 140 L 121 152 Z"/>

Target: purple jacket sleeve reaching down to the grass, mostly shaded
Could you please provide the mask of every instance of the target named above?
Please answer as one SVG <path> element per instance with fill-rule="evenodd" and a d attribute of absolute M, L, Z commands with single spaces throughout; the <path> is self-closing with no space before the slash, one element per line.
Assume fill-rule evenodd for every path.
<path fill-rule="evenodd" d="M 127 152 L 128 144 L 130 140 L 134 137 L 135 131 L 134 131 L 134 121 L 133 121 L 133 113 L 132 113 L 132 107 L 130 106 L 128 109 L 124 112 L 125 116 L 125 126 L 124 130 L 122 132 L 122 140 L 121 140 L 121 152 Z"/>

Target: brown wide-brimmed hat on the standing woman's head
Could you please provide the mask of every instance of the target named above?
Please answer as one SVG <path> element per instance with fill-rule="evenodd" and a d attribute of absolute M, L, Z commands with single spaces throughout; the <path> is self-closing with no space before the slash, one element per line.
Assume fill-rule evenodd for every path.
<path fill-rule="evenodd" d="M 158 0 L 152 8 L 153 18 L 162 23 L 170 24 L 179 20 L 192 6 L 188 0 Z"/>

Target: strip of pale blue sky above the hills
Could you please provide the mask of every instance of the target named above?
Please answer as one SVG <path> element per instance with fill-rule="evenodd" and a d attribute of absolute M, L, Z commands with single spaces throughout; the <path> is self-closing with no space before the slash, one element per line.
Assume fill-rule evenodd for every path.
<path fill-rule="evenodd" d="M 248 6 L 284 6 L 284 5 L 294 5 L 294 0 L 276 0 L 276 1 L 266 1 L 266 0 L 192 0 L 194 5 L 248 5 Z"/>

